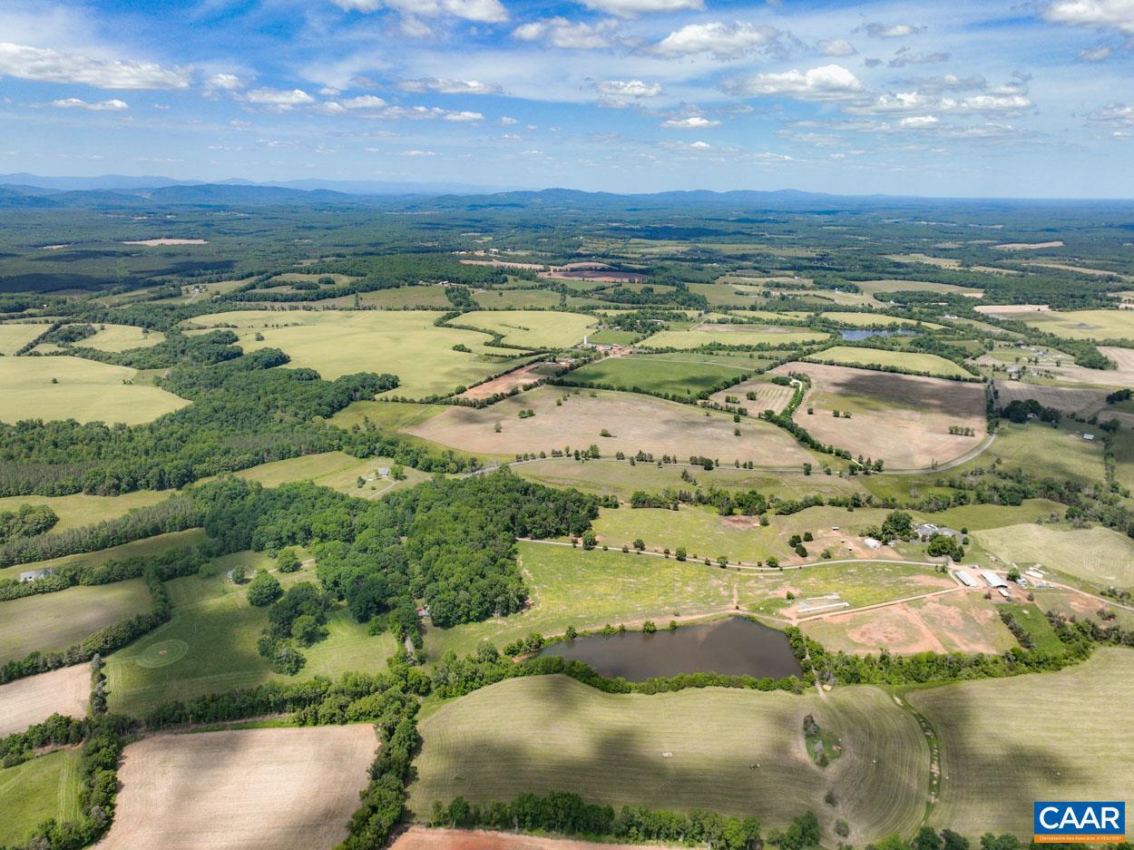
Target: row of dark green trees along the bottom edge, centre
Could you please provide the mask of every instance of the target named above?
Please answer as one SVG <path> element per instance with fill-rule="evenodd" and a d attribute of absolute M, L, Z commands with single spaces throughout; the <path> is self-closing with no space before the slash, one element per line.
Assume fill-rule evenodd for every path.
<path fill-rule="evenodd" d="M 568 791 L 552 791 L 547 796 L 524 793 L 510 802 L 494 800 L 483 806 L 469 805 L 464 797 L 457 797 L 448 806 L 434 800 L 432 821 L 435 826 L 550 832 L 611 842 L 706 844 L 718 850 L 761 847 L 760 821 L 754 817 L 726 817 L 699 809 L 665 811 L 641 806 L 625 806 L 616 814 L 610 806 L 587 802 Z M 814 833 L 812 841 L 811 831 L 806 832 L 806 844 L 781 847 L 785 850 L 816 847 L 818 822 Z"/>

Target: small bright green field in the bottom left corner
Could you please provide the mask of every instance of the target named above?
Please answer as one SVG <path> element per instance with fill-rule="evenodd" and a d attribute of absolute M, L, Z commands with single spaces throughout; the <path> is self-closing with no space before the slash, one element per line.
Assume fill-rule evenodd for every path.
<path fill-rule="evenodd" d="M 0 847 L 20 845 L 48 818 L 77 819 L 81 789 L 77 747 L 0 768 Z"/>

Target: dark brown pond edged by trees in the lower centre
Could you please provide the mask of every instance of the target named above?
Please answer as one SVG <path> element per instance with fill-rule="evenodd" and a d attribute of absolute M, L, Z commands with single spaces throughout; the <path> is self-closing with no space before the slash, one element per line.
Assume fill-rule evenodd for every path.
<path fill-rule="evenodd" d="M 781 679 L 802 672 L 784 632 L 739 617 L 653 635 L 587 635 L 552 644 L 540 654 L 576 658 L 603 675 L 634 682 L 678 673 Z"/>

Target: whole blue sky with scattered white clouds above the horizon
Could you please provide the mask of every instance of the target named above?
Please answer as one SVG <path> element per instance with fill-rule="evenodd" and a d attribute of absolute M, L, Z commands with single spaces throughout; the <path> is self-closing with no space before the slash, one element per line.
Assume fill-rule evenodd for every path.
<path fill-rule="evenodd" d="M 1134 197 L 1134 0 L 3 0 L 12 171 Z"/>

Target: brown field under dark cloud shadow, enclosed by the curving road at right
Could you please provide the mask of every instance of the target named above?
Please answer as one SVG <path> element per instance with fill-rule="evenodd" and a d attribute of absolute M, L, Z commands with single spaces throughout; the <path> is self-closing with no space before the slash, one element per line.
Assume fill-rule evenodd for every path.
<path fill-rule="evenodd" d="M 789 363 L 776 372 L 811 377 L 811 392 L 795 419 L 812 436 L 853 454 L 883 458 L 887 469 L 923 469 L 934 460 L 953 460 L 976 449 L 984 436 L 980 384 L 813 363 Z M 809 416 L 809 408 L 814 414 Z M 835 418 L 833 410 L 850 418 Z M 974 428 L 976 436 L 953 435 L 953 425 Z"/>

